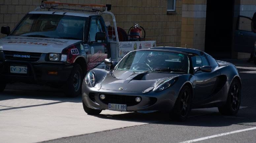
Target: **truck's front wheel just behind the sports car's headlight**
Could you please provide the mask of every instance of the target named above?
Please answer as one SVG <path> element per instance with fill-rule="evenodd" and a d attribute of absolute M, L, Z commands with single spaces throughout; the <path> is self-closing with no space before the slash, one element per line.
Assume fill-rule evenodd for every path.
<path fill-rule="evenodd" d="M 81 66 L 75 63 L 71 75 L 64 86 L 66 96 L 77 97 L 81 93 L 82 73 Z"/>

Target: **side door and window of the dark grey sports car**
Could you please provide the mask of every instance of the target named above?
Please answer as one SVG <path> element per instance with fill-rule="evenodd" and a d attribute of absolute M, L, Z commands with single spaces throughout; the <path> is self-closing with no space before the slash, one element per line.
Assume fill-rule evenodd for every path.
<path fill-rule="evenodd" d="M 191 60 L 193 67 L 210 66 L 206 56 L 195 55 L 191 57 Z M 216 68 L 212 67 L 211 72 L 198 71 L 194 74 L 194 102 L 204 100 L 213 94 L 217 76 L 220 75 L 220 73 L 215 69 Z"/>

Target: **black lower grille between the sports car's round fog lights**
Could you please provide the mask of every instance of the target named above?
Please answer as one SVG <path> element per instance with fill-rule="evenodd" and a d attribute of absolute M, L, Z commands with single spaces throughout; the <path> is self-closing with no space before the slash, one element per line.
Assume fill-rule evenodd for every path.
<path fill-rule="evenodd" d="M 100 95 L 100 94 L 99 94 Z M 114 95 L 114 94 L 105 94 L 105 99 L 100 99 L 105 104 L 126 104 L 127 106 L 134 106 L 140 102 L 136 102 L 135 98 L 139 96 L 127 96 L 127 95 Z"/>

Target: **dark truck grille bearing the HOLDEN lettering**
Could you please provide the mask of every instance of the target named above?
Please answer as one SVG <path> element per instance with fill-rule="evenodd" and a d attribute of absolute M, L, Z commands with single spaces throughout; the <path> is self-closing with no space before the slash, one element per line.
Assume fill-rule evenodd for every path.
<path fill-rule="evenodd" d="M 42 53 L 36 52 L 20 52 L 20 51 L 4 51 L 5 59 L 36 62 L 40 59 Z"/>

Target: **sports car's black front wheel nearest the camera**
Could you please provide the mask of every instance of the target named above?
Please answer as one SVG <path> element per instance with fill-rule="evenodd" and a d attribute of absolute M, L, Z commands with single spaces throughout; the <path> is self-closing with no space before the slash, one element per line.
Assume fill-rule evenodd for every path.
<path fill-rule="evenodd" d="M 176 99 L 170 118 L 176 121 L 185 121 L 191 111 L 192 91 L 188 86 L 184 86 Z"/>

